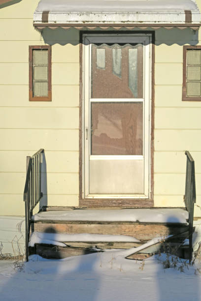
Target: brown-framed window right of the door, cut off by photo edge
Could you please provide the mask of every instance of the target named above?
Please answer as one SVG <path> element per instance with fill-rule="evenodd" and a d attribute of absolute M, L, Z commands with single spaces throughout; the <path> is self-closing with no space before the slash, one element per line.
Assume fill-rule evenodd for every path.
<path fill-rule="evenodd" d="M 182 100 L 201 101 L 201 46 L 183 48 Z"/>

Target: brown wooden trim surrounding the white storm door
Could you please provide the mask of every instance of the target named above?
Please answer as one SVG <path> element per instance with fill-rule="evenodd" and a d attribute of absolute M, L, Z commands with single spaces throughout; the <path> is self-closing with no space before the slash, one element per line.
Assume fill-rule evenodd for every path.
<path fill-rule="evenodd" d="M 82 82 L 82 36 L 84 33 L 89 33 L 89 31 L 80 31 L 80 52 L 79 52 L 79 60 L 80 60 L 80 102 L 79 102 L 79 206 L 80 207 L 123 207 L 123 208 L 151 208 L 154 207 L 154 65 L 155 65 L 155 31 L 98 31 L 99 33 L 151 33 L 152 34 L 152 91 L 151 91 L 151 192 L 149 199 L 83 199 L 82 198 L 82 102 L 83 102 L 83 82 Z"/>

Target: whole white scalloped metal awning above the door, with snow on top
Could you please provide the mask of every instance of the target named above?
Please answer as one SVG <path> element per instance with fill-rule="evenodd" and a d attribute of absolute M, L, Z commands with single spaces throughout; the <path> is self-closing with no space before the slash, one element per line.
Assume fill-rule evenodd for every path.
<path fill-rule="evenodd" d="M 200 21 L 196 0 L 40 0 L 33 15 L 33 26 L 38 30 L 46 27 L 198 30 Z"/>

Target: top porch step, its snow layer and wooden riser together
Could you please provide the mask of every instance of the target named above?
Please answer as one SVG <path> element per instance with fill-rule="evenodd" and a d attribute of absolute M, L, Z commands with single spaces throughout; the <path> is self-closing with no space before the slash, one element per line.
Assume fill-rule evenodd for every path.
<path fill-rule="evenodd" d="M 148 241 L 188 231 L 187 218 L 182 209 L 45 211 L 33 215 L 32 231 L 127 235 Z"/>

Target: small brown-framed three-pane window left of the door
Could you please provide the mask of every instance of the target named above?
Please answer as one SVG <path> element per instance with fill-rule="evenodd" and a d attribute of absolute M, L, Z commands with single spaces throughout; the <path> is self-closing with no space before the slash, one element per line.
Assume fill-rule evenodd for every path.
<path fill-rule="evenodd" d="M 29 100 L 51 101 L 51 46 L 30 46 L 29 64 Z"/>

